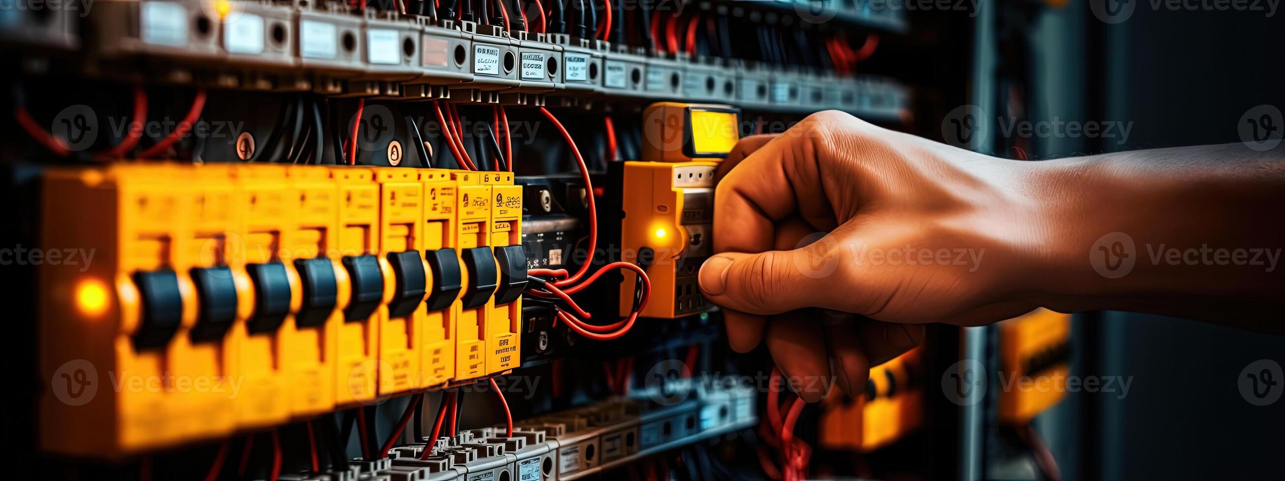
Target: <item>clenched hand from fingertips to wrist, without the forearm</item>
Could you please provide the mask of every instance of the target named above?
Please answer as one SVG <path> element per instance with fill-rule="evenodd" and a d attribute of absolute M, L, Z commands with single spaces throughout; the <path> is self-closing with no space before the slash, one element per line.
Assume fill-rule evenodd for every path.
<path fill-rule="evenodd" d="M 1019 164 L 838 112 L 744 139 L 718 168 L 702 291 L 727 309 L 732 349 L 766 336 L 786 376 L 830 380 L 833 359 L 839 387 L 860 392 L 925 322 L 1036 308 L 1018 295 L 1042 242 L 1037 207 L 1013 189 Z"/>

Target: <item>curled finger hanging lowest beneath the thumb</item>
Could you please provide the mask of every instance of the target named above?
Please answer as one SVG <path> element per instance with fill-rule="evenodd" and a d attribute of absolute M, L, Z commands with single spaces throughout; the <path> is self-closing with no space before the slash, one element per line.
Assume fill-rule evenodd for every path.
<path fill-rule="evenodd" d="M 790 387 L 808 403 L 821 400 L 830 380 L 821 325 L 792 312 L 774 317 L 767 331 L 767 350 Z"/>

